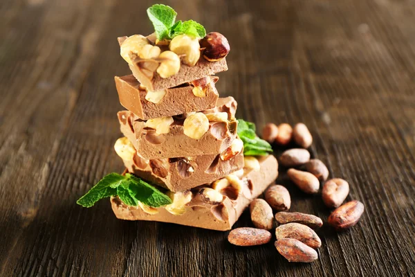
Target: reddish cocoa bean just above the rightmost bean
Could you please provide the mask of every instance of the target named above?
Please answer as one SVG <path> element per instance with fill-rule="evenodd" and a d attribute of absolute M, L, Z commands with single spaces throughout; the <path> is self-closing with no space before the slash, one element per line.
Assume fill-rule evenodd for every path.
<path fill-rule="evenodd" d="M 340 178 L 326 181 L 322 190 L 324 204 L 329 208 L 337 208 L 349 195 L 349 183 Z"/>

